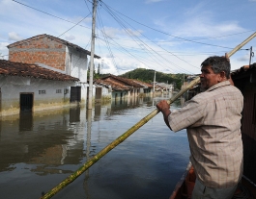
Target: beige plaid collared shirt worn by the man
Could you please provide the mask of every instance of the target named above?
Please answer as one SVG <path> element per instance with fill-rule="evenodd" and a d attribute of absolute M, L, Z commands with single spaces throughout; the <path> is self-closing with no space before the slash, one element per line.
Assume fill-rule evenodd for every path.
<path fill-rule="evenodd" d="M 233 187 L 242 178 L 242 107 L 241 91 L 225 81 L 169 114 L 174 132 L 186 128 L 190 161 L 206 187 Z"/>

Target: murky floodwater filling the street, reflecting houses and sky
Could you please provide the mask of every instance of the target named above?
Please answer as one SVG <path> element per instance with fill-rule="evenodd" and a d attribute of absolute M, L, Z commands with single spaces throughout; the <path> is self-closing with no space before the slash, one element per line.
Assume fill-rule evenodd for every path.
<path fill-rule="evenodd" d="M 0 198 L 40 198 L 169 97 L 2 118 Z M 185 130 L 171 132 L 158 113 L 52 198 L 168 199 L 188 157 Z"/>

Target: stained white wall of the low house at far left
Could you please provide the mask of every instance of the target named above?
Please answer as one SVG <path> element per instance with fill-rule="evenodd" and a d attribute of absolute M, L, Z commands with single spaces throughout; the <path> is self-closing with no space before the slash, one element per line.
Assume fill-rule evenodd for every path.
<path fill-rule="evenodd" d="M 64 89 L 74 86 L 75 82 L 0 75 L 1 113 L 2 115 L 19 113 L 20 92 L 34 94 L 34 112 L 69 105 L 70 90 L 65 94 Z M 61 93 L 56 93 L 57 89 L 61 89 Z M 40 94 L 39 90 L 45 90 L 45 94 Z"/>

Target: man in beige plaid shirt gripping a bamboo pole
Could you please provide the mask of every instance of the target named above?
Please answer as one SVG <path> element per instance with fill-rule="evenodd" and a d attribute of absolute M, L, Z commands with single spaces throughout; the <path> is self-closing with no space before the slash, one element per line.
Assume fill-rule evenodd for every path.
<path fill-rule="evenodd" d="M 243 97 L 229 77 L 230 62 L 225 57 L 210 57 L 201 64 L 204 92 L 173 112 L 165 100 L 156 105 L 172 131 L 186 128 L 197 177 L 192 199 L 232 198 L 242 178 Z"/>

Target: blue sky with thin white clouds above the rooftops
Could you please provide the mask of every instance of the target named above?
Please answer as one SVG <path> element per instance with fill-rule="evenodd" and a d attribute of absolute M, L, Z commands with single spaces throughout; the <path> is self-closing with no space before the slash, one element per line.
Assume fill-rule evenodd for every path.
<path fill-rule="evenodd" d="M 9 44 L 42 34 L 91 51 L 92 1 L 0 0 L 0 59 L 8 60 Z M 256 0 L 101 0 L 94 61 L 104 74 L 136 68 L 199 74 L 201 62 L 255 32 Z M 256 37 L 230 58 L 232 70 L 249 64 L 250 48 Z"/>

